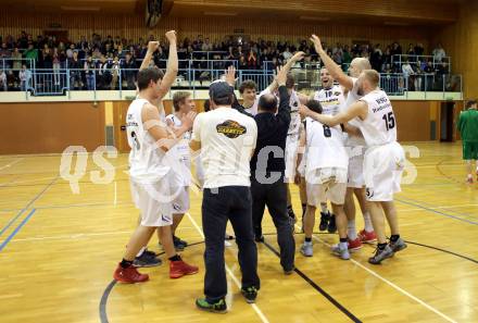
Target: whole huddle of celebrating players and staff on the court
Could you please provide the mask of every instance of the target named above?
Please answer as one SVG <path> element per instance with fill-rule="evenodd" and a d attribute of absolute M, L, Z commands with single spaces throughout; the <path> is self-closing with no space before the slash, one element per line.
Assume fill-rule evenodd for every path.
<path fill-rule="evenodd" d="M 179 222 L 189 210 L 189 187 L 193 183 L 191 161 L 194 157 L 197 184 L 204 188 L 202 218 L 206 245 L 206 299 L 198 300 L 197 305 L 206 310 L 225 310 L 225 272 L 222 265 L 224 254 L 222 258 L 217 256 L 224 252 L 224 243 L 221 247 L 217 239 L 222 234 L 221 239 L 224 240 L 225 224 L 217 226 L 215 222 L 219 219 L 224 221 L 224 214 L 216 212 L 222 203 L 235 204 L 229 208 L 230 212 L 243 210 L 241 212 L 247 214 L 248 219 L 240 221 L 232 216 L 227 218 L 229 215 L 226 214 L 225 221 L 229 220 L 232 223 L 237 234 L 241 269 L 243 275 L 250 278 L 249 282 L 243 277 L 242 283 L 244 285 L 246 282 L 247 286 L 242 286 L 242 294 L 248 301 L 254 301 L 260 282 L 256 275 L 253 234 L 256 241 L 263 240 L 263 236 L 262 214 L 251 212 L 255 200 L 254 196 L 250 198 L 250 191 L 254 192 L 254 189 L 249 188 L 249 176 L 252 175 L 249 163 L 252 153 L 252 160 L 256 160 L 256 165 L 251 165 L 251 169 L 256 169 L 253 177 L 259 190 L 255 191 L 261 192 L 260 185 L 266 183 L 261 183 L 262 179 L 257 176 L 257 171 L 263 165 L 260 165 L 261 152 L 254 152 L 254 149 L 257 150 L 256 140 L 257 146 L 261 138 L 264 140 L 264 129 L 274 128 L 271 122 L 285 122 L 288 127 L 285 128 L 287 132 L 284 132 L 285 151 L 281 163 L 285 164 L 285 170 L 280 179 L 295 183 L 300 187 L 303 207 L 302 231 L 305 234 L 300 248 L 303 256 L 313 256 L 312 238 L 317 208 L 322 211 L 320 229 L 328 228 L 329 232 L 335 232 L 337 226 L 340 240 L 332 246 L 331 251 L 341 259 L 350 259 L 350 250 L 357 250 L 362 248 L 363 243 L 375 240 L 378 243 L 377 249 L 368 260 L 373 264 L 379 264 L 406 248 L 406 244 L 400 237 L 393 203 L 393 194 L 400 191 L 404 152 L 397 142 L 397 121 L 392 105 L 387 94 L 380 90 L 379 74 L 370 69 L 367 59 L 354 59 L 348 76 L 324 51 L 319 38 L 313 35 L 311 41 L 324 64 L 320 70 L 322 88 L 313 96 L 297 92 L 293 77 L 288 74 L 292 64 L 304 55 L 303 52 L 298 52 L 284 69 L 278 70 L 274 83 L 259 96 L 253 82 L 243 82 L 239 87 L 242 105 L 234 95 L 235 71 L 231 67 L 226 72 L 225 82 L 214 82 L 210 87 L 211 99 L 207 103 L 211 103 L 211 112 L 196 117 L 191 95 L 177 91 L 173 98 L 175 111 L 165 116 L 161 99 L 169 91 L 178 71 L 175 32 L 166 33 L 166 38 L 169 41 L 166 73 L 149 66 L 159 46 L 158 41 L 151 41 L 138 73 L 138 97 L 127 112 L 126 126 L 131 147 L 131 195 L 141 214 L 124 258 L 114 272 L 116 281 L 140 283 L 149 278 L 147 274 L 139 273 L 137 266 L 161 263 L 156 254 L 146 249 L 156 229 L 169 260 L 169 276 L 178 278 L 198 273 L 198 266 L 186 263 L 177 253 L 187 243 L 175 235 Z M 232 110 L 227 108 L 231 107 L 241 113 L 230 112 Z M 265 115 L 262 120 L 257 117 L 261 113 Z M 263 126 L 264 123 L 268 123 L 268 126 Z M 271 139 L 274 136 L 266 137 L 274 141 L 275 138 Z M 244 147 L 246 150 L 242 150 Z M 202 151 L 199 157 L 196 153 L 191 156 L 190 149 Z M 216 156 L 217 151 L 226 156 Z M 246 151 L 247 156 L 236 158 L 235 153 L 240 154 L 241 151 Z M 223 165 L 222 159 L 230 162 L 230 165 Z M 238 166 L 235 166 L 236 163 Z M 225 173 L 221 173 L 223 166 Z M 222 191 L 224 194 L 229 189 L 227 187 L 232 190 L 224 196 L 224 200 L 217 200 Z M 275 188 L 269 186 L 267 189 Z M 278 189 L 281 191 L 280 187 Z M 242 198 L 232 199 L 236 192 L 237 197 Z M 284 200 L 285 196 L 284 191 Z M 280 210 L 271 212 L 271 202 L 274 204 L 274 200 L 267 202 L 277 227 L 281 225 L 278 224 L 281 220 L 277 221 L 277 216 L 280 218 L 282 214 L 286 219 L 287 214 L 290 216 L 292 225 L 295 223 L 290 192 L 287 196 L 288 206 L 284 202 L 284 210 L 280 207 Z M 355 225 L 354 197 L 358 201 L 365 224 L 360 233 L 356 232 Z M 277 202 L 282 206 L 281 201 Z M 334 215 L 327 211 L 327 202 L 330 202 Z M 264 204 L 262 212 L 263 210 Z M 213 216 L 219 218 L 214 220 Z M 385 219 L 391 231 L 389 243 L 385 233 Z M 285 231 L 284 226 L 279 233 L 278 227 L 278 235 L 291 234 L 291 231 Z M 290 274 L 293 272 L 294 241 L 291 236 L 281 238 L 284 239 L 279 237 L 281 253 L 286 252 L 285 249 L 290 249 L 290 252 L 287 252 L 291 256 L 284 257 L 281 264 L 285 273 Z M 213 260 L 216 256 L 217 261 Z M 221 282 L 217 283 L 215 279 L 219 276 Z"/>

